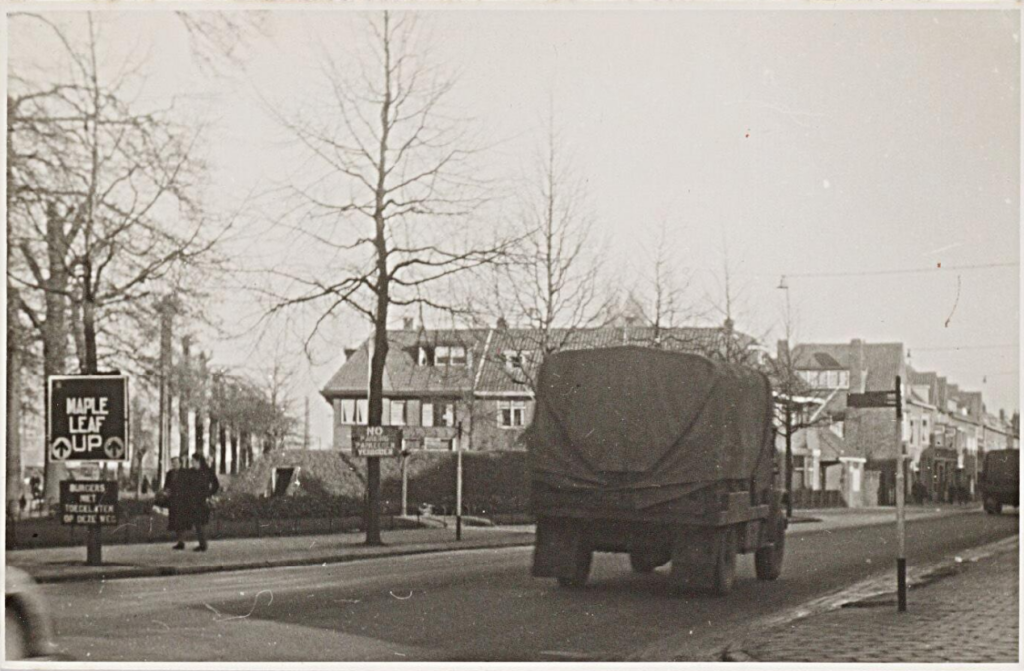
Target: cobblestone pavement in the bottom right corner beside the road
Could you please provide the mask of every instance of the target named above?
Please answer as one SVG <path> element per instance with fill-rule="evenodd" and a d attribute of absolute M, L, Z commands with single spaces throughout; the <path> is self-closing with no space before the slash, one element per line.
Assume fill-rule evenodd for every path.
<path fill-rule="evenodd" d="M 762 662 L 1018 663 L 1019 555 L 957 564 L 954 575 L 895 595 L 811 616 L 737 645 L 732 659 Z"/>

